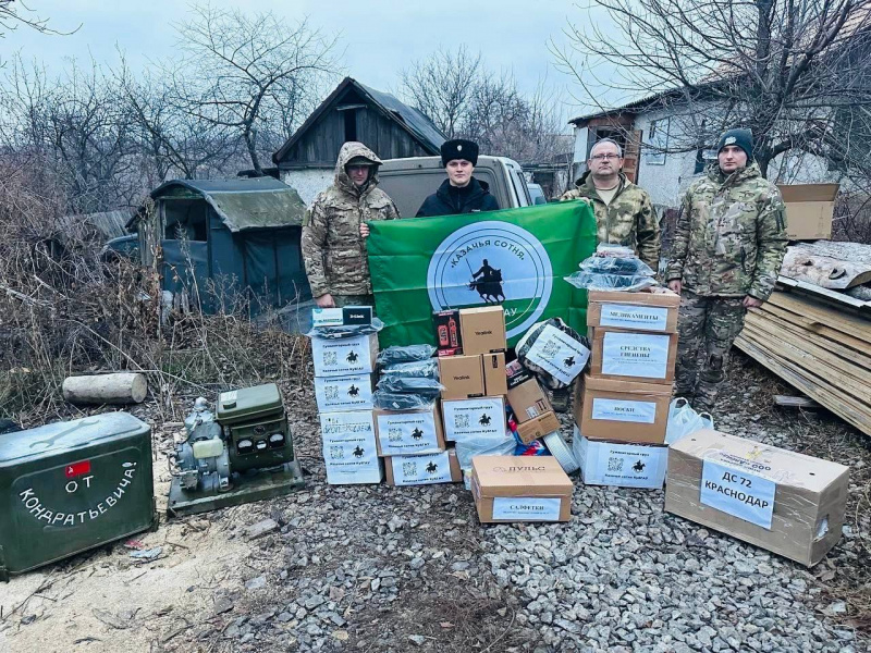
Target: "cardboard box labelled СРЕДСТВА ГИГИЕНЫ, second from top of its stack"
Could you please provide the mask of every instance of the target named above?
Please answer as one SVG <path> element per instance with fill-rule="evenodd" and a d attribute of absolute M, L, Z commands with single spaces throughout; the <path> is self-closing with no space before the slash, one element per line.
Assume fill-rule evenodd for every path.
<path fill-rule="evenodd" d="M 674 382 L 676 359 L 676 333 L 592 329 L 592 377 L 671 384 Z"/>

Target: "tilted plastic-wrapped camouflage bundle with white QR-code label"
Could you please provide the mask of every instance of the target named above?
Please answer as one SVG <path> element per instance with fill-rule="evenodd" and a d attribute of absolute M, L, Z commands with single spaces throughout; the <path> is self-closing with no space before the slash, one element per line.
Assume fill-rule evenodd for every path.
<path fill-rule="evenodd" d="M 560 318 L 533 324 L 516 349 L 517 360 L 551 390 L 572 383 L 590 357 L 587 338 Z"/>

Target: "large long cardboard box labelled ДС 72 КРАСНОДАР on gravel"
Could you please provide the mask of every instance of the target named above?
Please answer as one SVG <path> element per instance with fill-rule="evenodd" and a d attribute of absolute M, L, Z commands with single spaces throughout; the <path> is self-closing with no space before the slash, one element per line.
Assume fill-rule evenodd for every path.
<path fill-rule="evenodd" d="M 849 469 L 717 431 L 671 446 L 665 509 L 812 567 L 841 539 Z"/>

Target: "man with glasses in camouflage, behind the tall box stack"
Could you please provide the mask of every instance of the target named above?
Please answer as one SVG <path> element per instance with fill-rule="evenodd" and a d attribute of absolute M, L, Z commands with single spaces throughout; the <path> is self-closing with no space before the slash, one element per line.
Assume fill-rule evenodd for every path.
<path fill-rule="evenodd" d="M 599 243 L 631 247 L 653 272 L 660 263 L 660 223 L 650 195 L 621 172 L 623 151 L 611 138 L 592 146 L 587 172 L 560 199 L 582 198 L 596 213 Z"/>

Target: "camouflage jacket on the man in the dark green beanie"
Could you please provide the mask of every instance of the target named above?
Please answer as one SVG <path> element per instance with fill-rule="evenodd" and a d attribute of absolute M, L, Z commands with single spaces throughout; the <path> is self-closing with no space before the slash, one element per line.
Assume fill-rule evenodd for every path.
<path fill-rule="evenodd" d="M 766 300 L 786 250 L 777 186 L 756 163 L 726 176 L 714 165 L 684 196 L 666 281 L 697 295 Z"/>

